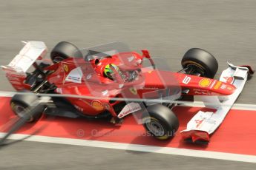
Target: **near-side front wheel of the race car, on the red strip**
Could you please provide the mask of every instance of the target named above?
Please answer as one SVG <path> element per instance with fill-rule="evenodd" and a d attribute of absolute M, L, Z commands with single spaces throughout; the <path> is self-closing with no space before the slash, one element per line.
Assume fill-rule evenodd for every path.
<path fill-rule="evenodd" d="M 168 107 L 156 104 L 148 106 L 147 112 L 142 115 L 145 130 L 159 140 L 174 137 L 179 128 L 179 120 Z"/>

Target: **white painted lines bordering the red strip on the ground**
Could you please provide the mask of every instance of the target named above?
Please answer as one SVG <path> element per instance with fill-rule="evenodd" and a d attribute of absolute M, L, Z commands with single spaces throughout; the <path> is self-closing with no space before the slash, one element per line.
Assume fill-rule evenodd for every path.
<path fill-rule="evenodd" d="M 6 92 L 0 93 L 1 97 L 12 97 L 13 95 Z M 182 106 L 194 106 L 194 107 L 203 107 L 203 102 L 194 102 L 194 103 L 186 103 Z M 256 110 L 256 105 L 252 104 L 240 104 L 235 103 L 232 109 L 242 109 L 242 110 Z M 6 133 L 0 132 L 0 137 L 3 137 Z M 9 137 L 10 140 L 19 140 L 28 135 L 22 134 L 13 134 Z M 157 154 L 173 154 L 179 156 L 188 156 L 188 157 L 202 157 L 202 158 L 210 158 L 217 160 L 232 160 L 232 161 L 240 161 L 246 163 L 256 163 L 256 155 L 247 155 L 247 154 L 232 154 L 232 153 L 224 153 L 224 152 L 210 152 L 210 151 L 201 151 L 201 150 L 193 150 L 193 149 L 178 149 L 171 147 L 160 147 L 160 146 L 146 146 L 146 145 L 137 145 L 131 143 L 114 143 L 114 142 L 105 142 L 98 140 L 84 140 L 84 139 L 71 139 L 64 137 L 47 137 L 40 135 L 32 135 L 24 140 L 32 141 L 32 142 L 43 142 L 43 143 L 57 143 L 57 144 L 66 144 L 66 145 L 74 145 L 74 146 L 89 146 L 89 147 L 97 147 L 97 148 L 106 148 L 106 149 L 122 149 L 122 150 L 130 150 L 137 152 L 151 152 Z"/>

